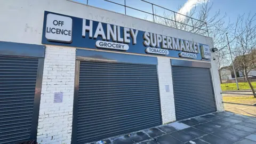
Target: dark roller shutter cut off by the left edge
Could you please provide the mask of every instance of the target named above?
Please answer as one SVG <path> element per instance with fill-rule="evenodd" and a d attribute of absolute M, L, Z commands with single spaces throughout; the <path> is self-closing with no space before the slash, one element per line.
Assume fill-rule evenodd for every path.
<path fill-rule="evenodd" d="M 0 143 L 31 139 L 38 59 L 0 56 Z"/>

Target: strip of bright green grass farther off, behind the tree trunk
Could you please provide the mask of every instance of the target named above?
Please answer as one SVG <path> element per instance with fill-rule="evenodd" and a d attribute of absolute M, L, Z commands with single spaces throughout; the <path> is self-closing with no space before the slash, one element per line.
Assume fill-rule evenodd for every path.
<path fill-rule="evenodd" d="M 238 83 L 239 90 L 250 90 L 248 83 Z M 252 82 L 252 86 L 256 89 L 256 82 Z M 222 91 L 237 90 L 236 83 L 221 84 Z"/>

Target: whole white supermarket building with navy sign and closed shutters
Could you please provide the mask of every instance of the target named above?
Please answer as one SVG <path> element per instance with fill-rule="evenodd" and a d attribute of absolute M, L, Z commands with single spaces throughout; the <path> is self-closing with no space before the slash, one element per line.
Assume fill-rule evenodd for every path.
<path fill-rule="evenodd" d="M 210 37 L 66 0 L 0 8 L 0 143 L 86 143 L 223 111 Z"/>

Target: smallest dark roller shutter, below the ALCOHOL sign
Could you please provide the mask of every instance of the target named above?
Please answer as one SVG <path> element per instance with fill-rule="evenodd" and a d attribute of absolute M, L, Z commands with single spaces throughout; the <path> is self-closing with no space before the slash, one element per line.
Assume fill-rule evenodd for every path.
<path fill-rule="evenodd" d="M 172 66 L 176 119 L 216 111 L 209 68 Z"/>

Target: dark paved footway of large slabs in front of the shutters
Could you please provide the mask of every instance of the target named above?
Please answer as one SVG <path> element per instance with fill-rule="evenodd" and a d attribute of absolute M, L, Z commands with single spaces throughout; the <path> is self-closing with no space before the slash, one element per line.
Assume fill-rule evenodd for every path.
<path fill-rule="evenodd" d="M 102 141 L 105 144 L 255 144 L 256 117 L 216 112 Z"/>

